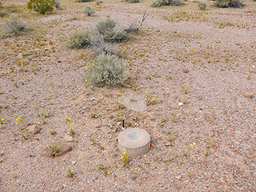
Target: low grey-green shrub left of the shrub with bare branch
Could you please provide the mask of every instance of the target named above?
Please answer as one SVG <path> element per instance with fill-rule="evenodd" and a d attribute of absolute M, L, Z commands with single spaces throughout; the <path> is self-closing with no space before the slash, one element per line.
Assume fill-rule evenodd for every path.
<path fill-rule="evenodd" d="M 70 35 L 67 41 L 67 47 L 71 49 L 81 49 L 90 45 L 89 31 L 76 31 Z"/>

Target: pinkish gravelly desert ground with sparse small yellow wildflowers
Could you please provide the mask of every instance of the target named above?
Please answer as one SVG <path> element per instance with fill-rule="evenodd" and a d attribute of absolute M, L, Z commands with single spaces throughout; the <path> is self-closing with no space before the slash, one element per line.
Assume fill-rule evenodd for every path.
<path fill-rule="evenodd" d="M 28 11 L 26 1 L 12 2 L 31 30 L 0 39 L 1 192 L 255 191 L 255 2 L 221 9 L 205 1 L 209 10 L 200 11 L 192 1 L 151 8 L 152 1 L 63 0 L 63 10 L 44 16 Z M 93 17 L 84 16 L 86 4 L 95 8 Z M 95 52 L 68 49 L 70 33 L 106 17 L 127 27 L 145 11 L 140 33 L 113 45 L 127 60 L 132 88 L 85 82 Z M 118 97 L 132 94 L 148 97 L 145 111 L 118 108 Z M 121 119 L 147 130 L 152 141 L 150 152 L 125 167 L 116 140 Z M 40 132 L 26 131 L 31 124 Z M 51 143 L 68 143 L 70 129 L 70 152 L 40 155 Z"/>

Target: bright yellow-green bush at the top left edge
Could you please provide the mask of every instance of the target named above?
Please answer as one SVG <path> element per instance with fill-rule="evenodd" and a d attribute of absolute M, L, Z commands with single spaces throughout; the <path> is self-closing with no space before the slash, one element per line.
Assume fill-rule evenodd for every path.
<path fill-rule="evenodd" d="M 54 0 L 29 0 L 28 9 L 44 15 L 47 12 L 52 12 L 54 4 Z"/>

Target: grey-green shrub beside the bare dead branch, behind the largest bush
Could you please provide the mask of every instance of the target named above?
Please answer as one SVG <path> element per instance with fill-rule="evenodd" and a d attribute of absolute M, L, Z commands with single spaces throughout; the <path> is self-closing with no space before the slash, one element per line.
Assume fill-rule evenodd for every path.
<path fill-rule="evenodd" d="M 96 24 L 96 28 L 93 33 L 99 33 L 99 36 L 102 36 L 104 40 L 109 42 L 120 42 L 128 38 L 127 32 L 116 26 L 115 21 L 109 18 L 100 20 Z"/>

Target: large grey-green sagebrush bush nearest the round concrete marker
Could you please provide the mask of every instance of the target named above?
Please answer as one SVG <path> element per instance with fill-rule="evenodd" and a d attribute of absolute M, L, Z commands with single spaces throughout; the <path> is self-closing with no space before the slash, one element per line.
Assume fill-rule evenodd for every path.
<path fill-rule="evenodd" d="M 128 77 L 124 65 L 117 56 L 101 53 L 88 65 L 86 79 L 96 86 L 122 84 Z"/>

